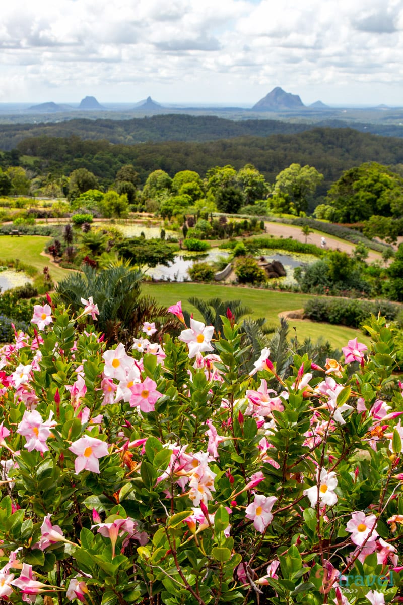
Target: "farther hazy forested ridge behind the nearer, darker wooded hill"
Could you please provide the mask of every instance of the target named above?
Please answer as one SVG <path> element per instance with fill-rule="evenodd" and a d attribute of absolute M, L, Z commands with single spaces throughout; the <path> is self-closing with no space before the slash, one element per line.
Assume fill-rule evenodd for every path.
<path fill-rule="evenodd" d="M 136 118 L 132 120 L 66 120 L 41 124 L 0 125 L 0 149 L 10 151 L 28 136 L 69 137 L 102 140 L 111 143 L 159 142 L 159 141 L 210 141 L 240 136 L 268 136 L 270 134 L 294 134 L 318 126 L 354 128 L 384 136 L 403 136 L 403 128 L 372 123 L 347 123 L 328 120 L 320 123 L 280 122 L 279 120 L 225 120 L 215 116 L 187 116 L 170 114 Z M 402 131 L 402 132 L 401 132 Z"/>

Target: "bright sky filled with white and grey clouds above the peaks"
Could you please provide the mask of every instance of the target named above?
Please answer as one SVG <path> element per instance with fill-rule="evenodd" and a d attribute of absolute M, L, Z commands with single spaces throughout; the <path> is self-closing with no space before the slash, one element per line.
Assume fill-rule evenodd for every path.
<path fill-rule="evenodd" d="M 4 1 L 0 103 L 403 106 L 403 0 Z"/>

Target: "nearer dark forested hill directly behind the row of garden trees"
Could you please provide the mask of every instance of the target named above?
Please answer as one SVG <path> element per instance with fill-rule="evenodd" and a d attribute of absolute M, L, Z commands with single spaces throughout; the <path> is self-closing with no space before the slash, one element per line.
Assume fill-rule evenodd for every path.
<path fill-rule="evenodd" d="M 231 164 L 242 168 L 252 163 L 268 181 L 291 163 L 315 166 L 324 174 L 321 189 L 326 191 L 344 170 L 363 162 L 388 166 L 403 163 L 403 140 L 364 134 L 351 128 L 314 128 L 298 134 L 267 137 L 237 137 L 208 143 L 162 142 L 112 145 L 107 140 L 90 141 L 79 137 L 28 137 L 19 152 L 33 155 L 40 171 L 68 175 L 87 168 L 105 184 L 112 183 L 121 166 L 132 163 L 144 183 L 150 172 L 163 169 L 173 177 L 181 170 L 204 176 L 212 166 Z"/>

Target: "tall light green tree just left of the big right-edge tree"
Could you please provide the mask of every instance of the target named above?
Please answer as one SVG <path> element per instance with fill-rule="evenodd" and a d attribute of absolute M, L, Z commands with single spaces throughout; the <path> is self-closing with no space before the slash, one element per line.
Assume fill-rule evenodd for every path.
<path fill-rule="evenodd" d="M 277 174 L 274 194 L 288 196 L 288 203 L 295 208 L 297 215 L 308 210 L 308 203 L 317 186 L 323 181 L 323 174 L 313 166 L 291 164 Z"/>

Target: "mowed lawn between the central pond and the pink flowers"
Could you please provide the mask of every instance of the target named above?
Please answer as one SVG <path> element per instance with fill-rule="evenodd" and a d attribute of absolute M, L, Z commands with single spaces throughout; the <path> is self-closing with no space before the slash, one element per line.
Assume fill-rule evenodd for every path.
<path fill-rule="evenodd" d="M 199 312 L 188 299 L 192 296 L 198 298 L 221 298 L 223 300 L 240 299 L 242 304 L 251 307 L 251 317 L 265 317 L 269 324 L 279 324 L 279 313 L 301 309 L 312 296 L 308 294 L 294 294 L 289 292 L 274 292 L 272 290 L 257 290 L 237 286 L 216 286 L 216 284 L 190 284 L 190 283 L 146 283 L 143 284 L 143 293 L 152 296 L 160 304 L 170 306 L 182 301 L 182 307 L 195 313 L 196 319 L 202 319 Z M 343 325 L 322 324 L 312 321 L 288 320 L 289 335 L 303 341 L 310 336 L 316 342 L 319 338 L 330 341 L 334 347 L 341 348 L 347 341 L 357 337 L 359 342 L 369 344 L 369 338 L 360 330 L 353 330 Z M 295 330 L 294 330 L 295 327 Z"/>

